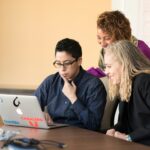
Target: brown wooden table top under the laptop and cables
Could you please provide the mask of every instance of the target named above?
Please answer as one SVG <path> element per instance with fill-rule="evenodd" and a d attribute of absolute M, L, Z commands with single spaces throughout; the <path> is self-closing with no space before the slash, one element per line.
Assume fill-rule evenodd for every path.
<path fill-rule="evenodd" d="M 76 127 L 57 129 L 33 129 L 24 127 L 3 126 L 7 130 L 20 131 L 22 135 L 40 140 L 56 140 L 67 144 L 64 150 L 149 150 L 150 147 L 141 144 L 126 142 L 107 135 Z M 0 142 L 0 145 L 2 143 Z M 49 150 L 60 148 L 49 146 Z"/>

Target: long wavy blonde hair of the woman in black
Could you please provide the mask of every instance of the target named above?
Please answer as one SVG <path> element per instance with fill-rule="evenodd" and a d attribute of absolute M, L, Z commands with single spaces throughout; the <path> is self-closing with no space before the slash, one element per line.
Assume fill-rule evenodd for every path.
<path fill-rule="evenodd" d="M 132 92 L 133 78 L 140 73 L 150 73 L 150 61 L 127 40 L 110 44 L 105 49 L 105 53 L 113 54 L 123 66 L 120 84 L 113 85 L 109 80 L 109 96 L 112 100 L 120 97 L 122 101 L 128 102 Z"/>

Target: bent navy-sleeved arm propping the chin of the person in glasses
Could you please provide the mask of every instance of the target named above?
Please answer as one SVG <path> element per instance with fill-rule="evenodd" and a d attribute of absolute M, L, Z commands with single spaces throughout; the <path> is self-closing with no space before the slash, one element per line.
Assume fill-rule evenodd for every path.
<path fill-rule="evenodd" d="M 89 85 L 87 93 L 84 93 L 87 104 L 83 104 L 77 99 L 73 103 L 74 112 L 84 126 L 91 130 L 99 130 L 106 104 L 106 90 L 102 82 L 98 79 Z"/>

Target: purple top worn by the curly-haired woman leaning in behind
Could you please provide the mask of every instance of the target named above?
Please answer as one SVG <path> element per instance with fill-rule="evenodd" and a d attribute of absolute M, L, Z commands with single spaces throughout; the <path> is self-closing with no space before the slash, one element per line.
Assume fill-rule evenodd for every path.
<path fill-rule="evenodd" d="M 150 48 L 148 47 L 148 45 L 144 41 L 138 40 L 138 48 L 150 60 Z M 98 78 L 102 78 L 102 77 L 106 76 L 104 71 L 98 67 L 97 68 L 90 67 L 87 70 L 87 72 L 92 74 L 93 76 L 98 77 Z"/>

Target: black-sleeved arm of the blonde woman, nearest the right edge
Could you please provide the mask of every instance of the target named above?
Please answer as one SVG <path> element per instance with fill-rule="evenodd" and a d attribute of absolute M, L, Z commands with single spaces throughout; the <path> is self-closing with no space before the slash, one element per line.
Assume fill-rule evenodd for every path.
<path fill-rule="evenodd" d="M 133 141 L 140 141 L 150 137 L 150 75 L 142 78 L 136 86 L 138 86 L 138 97 L 140 96 L 143 103 L 143 107 L 137 105 L 143 126 L 136 128 L 129 135 Z"/>

